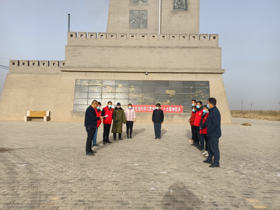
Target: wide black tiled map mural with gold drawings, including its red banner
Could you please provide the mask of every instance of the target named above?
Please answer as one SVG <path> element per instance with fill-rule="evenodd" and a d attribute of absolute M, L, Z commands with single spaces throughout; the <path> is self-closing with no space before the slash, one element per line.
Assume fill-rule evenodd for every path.
<path fill-rule="evenodd" d="M 108 101 L 112 101 L 113 107 L 118 102 L 123 107 L 131 103 L 138 112 L 152 112 L 157 103 L 165 112 L 191 112 L 192 99 L 204 105 L 208 98 L 209 81 L 76 79 L 73 111 L 85 111 L 97 100 L 102 107 Z"/>

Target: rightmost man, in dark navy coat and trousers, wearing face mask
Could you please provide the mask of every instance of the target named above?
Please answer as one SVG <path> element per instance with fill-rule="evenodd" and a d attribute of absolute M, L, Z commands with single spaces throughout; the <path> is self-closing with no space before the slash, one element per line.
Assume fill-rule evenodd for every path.
<path fill-rule="evenodd" d="M 207 107 L 209 115 L 207 117 L 207 137 L 208 137 L 208 158 L 204 160 L 204 163 L 209 163 L 209 167 L 220 167 L 220 150 L 219 150 L 219 138 L 221 137 L 221 114 L 216 107 L 216 99 L 209 98 Z M 212 158 L 214 156 L 214 162 Z"/>

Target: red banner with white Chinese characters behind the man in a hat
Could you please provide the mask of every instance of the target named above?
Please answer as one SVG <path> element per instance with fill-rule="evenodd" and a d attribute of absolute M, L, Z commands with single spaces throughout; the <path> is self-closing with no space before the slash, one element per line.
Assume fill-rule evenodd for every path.
<path fill-rule="evenodd" d="M 135 112 L 153 112 L 156 109 L 156 106 L 150 105 L 133 105 Z M 162 105 L 160 108 L 166 113 L 183 113 L 183 106 L 169 106 Z"/>

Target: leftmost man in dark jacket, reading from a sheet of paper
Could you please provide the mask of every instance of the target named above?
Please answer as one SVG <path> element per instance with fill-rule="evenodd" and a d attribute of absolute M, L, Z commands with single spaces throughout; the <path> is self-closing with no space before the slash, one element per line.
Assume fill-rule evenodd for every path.
<path fill-rule="evenodd" d="M 87 108 L 85 113 L 85 127 L 88 133 L 87 143 L 86 143 L 86 155 L 94 155 L 94 152 L 91 149 L 91 142 L 97 128 L 97 120 L 102 119 L 103 117 L 96 117 L 95 109 L 98 105 L 97 100 L 93 100 L 91 105 Z"/>

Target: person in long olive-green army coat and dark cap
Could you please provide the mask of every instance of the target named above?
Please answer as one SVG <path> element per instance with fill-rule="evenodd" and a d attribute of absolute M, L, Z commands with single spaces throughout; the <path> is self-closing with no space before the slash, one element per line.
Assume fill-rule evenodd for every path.
<path fill-rule="evenodd" d="M 117 140 L 117 133 L 119 134 L 119 140 L 122 139 L 122 125 L 126 123 L 124 110 L 121 107 L 120 103 L 117 103 L 117 106 L 113 110 L 113 126 L 112 131 L 114 141 Z"/>

